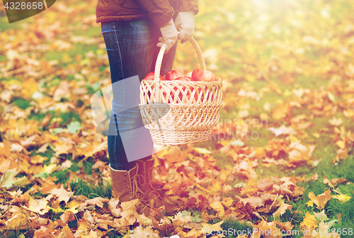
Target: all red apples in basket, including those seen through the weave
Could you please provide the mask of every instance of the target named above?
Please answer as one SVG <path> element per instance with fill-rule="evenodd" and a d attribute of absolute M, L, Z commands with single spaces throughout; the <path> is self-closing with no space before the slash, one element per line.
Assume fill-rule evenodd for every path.
<path fill-rule="evenodd" d="M 154 80 L 154 72 L 150 72 L 149 74 L 147 74 L 147 76 L 144 77 L 144 80 Z M 162 77 L 160 75 L 160 81 L 175 81 L 175 80 L 181 80 L 181 81 L 206 81 L 206 82 L 218 81 L 218 79 L 214 77 L 214 74 L 212 74 L 212 72 L 207 71 L 207 70 L 202 70 L 202 69 L 195 69 L 195 70 L 193 70 L 193 72 L 189 72 L 185 76 L 181 76 L 180 72 L 178 72 L 177 70 L 171 70 L 171 71 L 167 72 L 165 77 Z M 174 89 L 177 90 L 177 87 L 175 86 Z M 186 90 L 186 88 L 185 88 L 185 86 L 183 86 L 183 91 L 185 91 L 185 90 Z M 202 89 L 198 88 L 199 94 L 200 94 L 201 91 L 202 91 Z M 166 98 L 166 92 L 163 92 L 162 96 L 164 96 L 164 98 Z M 190 102 L 189 91 L 187 92 L 186 96 L 187 96 L 187 100 L 184 101 L 182 93 L 180 92 L 178 94 L 178 97 L 180 98 L 180 101 L 182 101 L 182 103 L 189 103 Z M 194 94 L 194 98 L 195 98 L 195 101 L 197 101 L 198 100 L 198 94 L 195 93 Z M 204 97 L 201 96 L 202 100 L 203 100 L 203 98 Z M 171 92 L 171 95 L 168 96 L 169 103 L 173 103 L 173 99 L 174 99 L 174 94 Z"/>

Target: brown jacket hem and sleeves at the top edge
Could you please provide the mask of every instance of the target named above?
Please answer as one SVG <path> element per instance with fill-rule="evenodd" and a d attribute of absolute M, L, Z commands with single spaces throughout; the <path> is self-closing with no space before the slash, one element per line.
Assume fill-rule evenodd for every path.
<path fill-rule="evenodd" d="M 199 11 L 198 0 L 98 0 L 96 22 L 131 21 L 152 18 L 156 26 L 166 25 L 175 13 Z"/>

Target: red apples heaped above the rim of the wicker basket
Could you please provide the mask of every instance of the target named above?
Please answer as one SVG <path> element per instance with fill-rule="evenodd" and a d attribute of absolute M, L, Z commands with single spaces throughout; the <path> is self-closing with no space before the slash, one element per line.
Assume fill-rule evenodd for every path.
<path fill-rule="evenodd" d="M 145 80 L 154 80 L 154 72 L 149 72 L 147 76 L 144 77 Z M 217 81 L 218 79 L 214 77 L 212 72 L 202 69 L 194 69 L 193 72 L 189 72 L 185 76 L 182 76 L 177 70 L 171 70 L 167 72 L 165 77 L 160 75 L 161 81 Z"/>

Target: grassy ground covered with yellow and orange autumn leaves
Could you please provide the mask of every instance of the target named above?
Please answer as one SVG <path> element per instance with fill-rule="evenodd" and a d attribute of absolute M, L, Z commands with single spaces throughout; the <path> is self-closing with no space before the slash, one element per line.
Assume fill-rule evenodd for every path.
<path fill-rule="evenodd" d="M 2 237 L 353 237 L 352 1 L 200 0 L 221 118 L 210 141 L 154 154 L 166 205 L 149 217 L 111 198 L 91 117 L 110 84 L 95 7 L 57 1 L 12 24 L 0 12 Z M 178 45 L 173 68 L 197 67 Z"/>

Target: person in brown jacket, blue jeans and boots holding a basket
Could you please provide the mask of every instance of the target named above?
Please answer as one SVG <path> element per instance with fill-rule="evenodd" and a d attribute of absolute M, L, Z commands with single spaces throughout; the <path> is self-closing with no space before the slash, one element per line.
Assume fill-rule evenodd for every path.
<path fill-rule="evenodd" d="M 108 154 L 113 196 L 121 202 L 142 198 L 146 205 L 154 204 L 158 193 L 150 185 L 153 159 L 151 155 L 128 162 L 121 135 L 130 141 L 139 140 L 136 128 L 142 128 L 137 108 L 139 81 L 134 92 L 115 84 L 122 79 L 138 76 L 143 79 L 154 71 L 159 47 L 166 43 L 161 75 L 172 69 L 176 41 L 185 42 L 194 32 L 194 16 L 198 0 L 98 0 L 96 22 L 101 23 L 113 85 L 113 110 L 108 135 Z M 178 33 L 179 31 L 179 33 Z M 123 110 L 124 108 L 130 108 Z M 127 132 L 127 133 L 123 133 Z M 151 146 L 151 137 L 147 145 Z M 139 149 L 139 147 L 137 147 Z M 159 200 L 161 202 L 161 200 Z"/>

